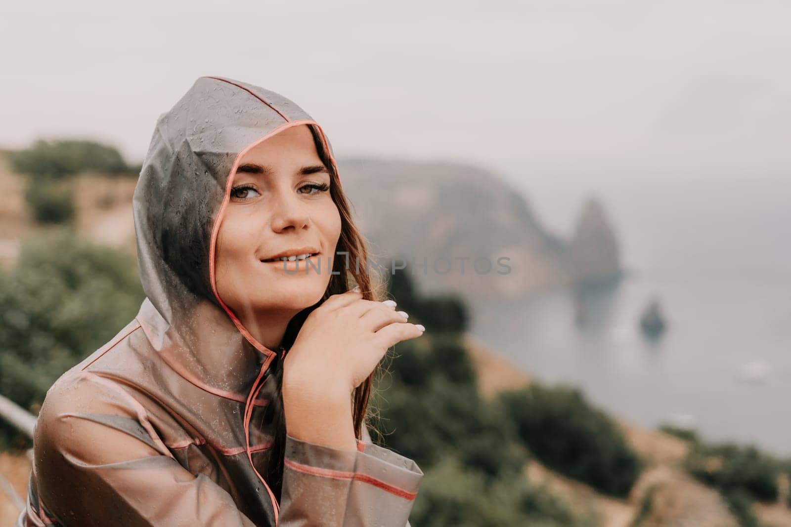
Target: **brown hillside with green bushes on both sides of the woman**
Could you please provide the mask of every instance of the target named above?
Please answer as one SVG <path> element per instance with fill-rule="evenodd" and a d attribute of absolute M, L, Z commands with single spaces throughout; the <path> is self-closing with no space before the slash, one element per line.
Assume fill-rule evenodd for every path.
<path fill-rule="evenodd" d="M 74 216 L 55 227 L 32 215 L 26 178 L 0 163 L 0 393 L 35 413 L 49 383 L 134 316 L 142 291 L 134 178 L 64 176 Z M 426 473 L 416 527 L 791 525 L 782 461 L 634 427 L 572 387 L 528 378 L 467 333 L 463 295 L 413 277 L 391 275 L 388 292 L 428 331 L 384 360 L 373 439 Z M 0 474 L 24 496 L 29 443 L 0 423 L 0 446 Z M 16 515 L 0 492 L 0 526 Z"/>

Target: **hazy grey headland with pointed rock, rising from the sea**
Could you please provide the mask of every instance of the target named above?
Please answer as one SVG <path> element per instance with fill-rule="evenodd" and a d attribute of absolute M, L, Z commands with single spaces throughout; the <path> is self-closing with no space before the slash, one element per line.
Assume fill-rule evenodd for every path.
<path fill-rule="evenodd" d="M 598 201 L 568 241 L 541 224 L 520 189 L 483 168 L 346 159 L 339 170 L 372 260 L 406 262 L 422 291 L 505 299 L 619 273 L 619 244 Z"/>

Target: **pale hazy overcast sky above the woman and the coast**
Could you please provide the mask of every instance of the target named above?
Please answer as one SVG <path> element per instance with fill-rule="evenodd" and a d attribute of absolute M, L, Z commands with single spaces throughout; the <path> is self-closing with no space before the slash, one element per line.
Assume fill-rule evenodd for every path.
<path fill-rule="evenodd" d="M 339 156 L 470 160 L 539 197 L 787 174 L 789 27 L 787 0 L 3 2 L 0 145 L 96 137 L 139 161 L 210 74 L 294 100 Z"/>

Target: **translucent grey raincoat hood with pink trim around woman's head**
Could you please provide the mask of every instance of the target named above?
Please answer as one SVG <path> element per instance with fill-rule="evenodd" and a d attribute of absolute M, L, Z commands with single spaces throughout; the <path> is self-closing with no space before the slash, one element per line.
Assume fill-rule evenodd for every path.
<path fill-rule="evenodd" d="M 251 405 L 272 361 L 282 359 L 286 349 L 271 350 L 256 341 L 222 301 L 214 277 L 215 247 L 244 154 L 301 125 L 316 126 L 335 164 L 324 131 L 297 104 L 244 82 L 200 77 L 157 119 L 134 191 L 138 267 L 147 297 L 138 320 L 146 333 L 167 341 L 160 356 L 182 377 L 202 390 L 244 401 L 248 447 Z M 278 394 L 270 395 L 267 403 Z"/>

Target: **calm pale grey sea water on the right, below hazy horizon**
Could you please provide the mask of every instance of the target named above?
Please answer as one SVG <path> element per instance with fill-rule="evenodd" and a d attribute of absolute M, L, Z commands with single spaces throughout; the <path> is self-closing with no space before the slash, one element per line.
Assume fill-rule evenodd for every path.
<path fill-rule="evenodd" d="M 543 218 L 570 224 L 581 194 L 537 188 Z M 472 333 L 536 378 L 579 386 L 626 420 L 688 423 L 706 439 L 791 454 L 789 179 L 595 188 L 623 240 L 626 279 L 586 295 L 582 324 L 574 295 L 559 291 L 475 304 Z M 658 341 L 638 329 L 653 296 L 668 319 Z"/>

